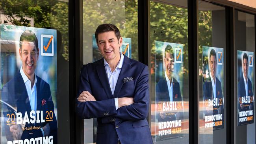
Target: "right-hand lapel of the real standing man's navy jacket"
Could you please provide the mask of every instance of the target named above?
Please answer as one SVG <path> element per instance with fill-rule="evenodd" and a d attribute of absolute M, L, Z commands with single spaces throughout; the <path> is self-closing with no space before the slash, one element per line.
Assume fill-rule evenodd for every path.
<path fill-rule="evenodd" d="M 121 72 L 117 79 L 117 84 L 115 85 L 115 92 L 114 92 L 114 98 L 117 98 L 118 93 L 120 92 L 122 85 L 124 84 L 123 78 L 130 77 L 129 70 L 132 68 L 130 66 L 130 59 L 124 55 L 124 62 L 122 64 Z"/>

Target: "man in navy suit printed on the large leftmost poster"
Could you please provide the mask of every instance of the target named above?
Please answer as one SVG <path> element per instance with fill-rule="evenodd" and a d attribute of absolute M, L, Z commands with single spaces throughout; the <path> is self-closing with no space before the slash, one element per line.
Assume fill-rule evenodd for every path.
<path fill-rule="evenodd" d="M 4 102 L 17 109 L 17 113 L 21 113 L 22 118 L 27 113 L 30 122 L 17 124 L 18 121 L 16 121 L 14 125 L 7 125 L 11 121 L 5 121 L 7 141 L 30 140 L 30 138 L 48 136 L 51 139 L 50 141 L 53 140 L 53 143 L 57 144 L 57 121 L 54 114 L 50 86 L 43 79 L 35 75 L 39 48 L 37 37 L 32 31 L 26 30 L 20 36 L 19 55 L 22 67 L 15 74 L 14 78 L 4 85 L 1 90 L 1 96 Z M 2 104 L 2 109 L 4 117 L 7 114 L 12 114 L 9 113 L 9 107 L 6 105 Z M 40 113 L 37 113 L 37 111 L 40 111 Z M 46 111 L 48 111 L 48 114 Z M 31 121 L 33 116 L 35 116 L 35 121 Z M 37 122 L 37 117 L 40 119 L 39 122 Z M 44 119 L 45 122 L 42 122 L 41 119 Z M 17 117 L 16 120 L 18 120 Z M 37 129 L 29 129 L 33 126 L 37 127 Z"/>

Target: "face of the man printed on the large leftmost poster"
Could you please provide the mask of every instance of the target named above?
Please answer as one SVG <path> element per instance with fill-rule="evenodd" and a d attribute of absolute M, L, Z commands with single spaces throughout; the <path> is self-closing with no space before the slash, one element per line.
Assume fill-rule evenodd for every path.
<path fill-rule="evenodd" d="M 22 61 L 22 70 L 28 78 L 35 74 L 39 49 L 36 50 L 33 42 L 23 41 L 21 49 L 19 48 L 20 60 Z"/>

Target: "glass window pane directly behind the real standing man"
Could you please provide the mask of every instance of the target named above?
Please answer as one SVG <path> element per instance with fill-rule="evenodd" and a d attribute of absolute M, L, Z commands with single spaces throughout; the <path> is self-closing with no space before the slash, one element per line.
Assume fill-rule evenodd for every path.
<path fill-rule="evenodd" d="M 137 0 L 83 0 L 83 64 L 102 58 L 95 39 L 100 24 L 116 25 L 123 38 L 122 53 L 138 59 Z M 95 119 L 84 120 L 84 143 L 96 142 Z"/>

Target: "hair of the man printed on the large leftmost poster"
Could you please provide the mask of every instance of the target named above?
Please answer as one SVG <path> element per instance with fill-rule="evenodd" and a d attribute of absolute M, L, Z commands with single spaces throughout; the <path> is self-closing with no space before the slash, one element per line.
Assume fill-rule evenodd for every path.
<path fill-rule="evenodd" d="M 20 35 L 20 50 L 23 41 L 33 42 L 35 44 L 36 50 L 38 50 L 38 40 L 33 31 L 26 30 Z"/>

